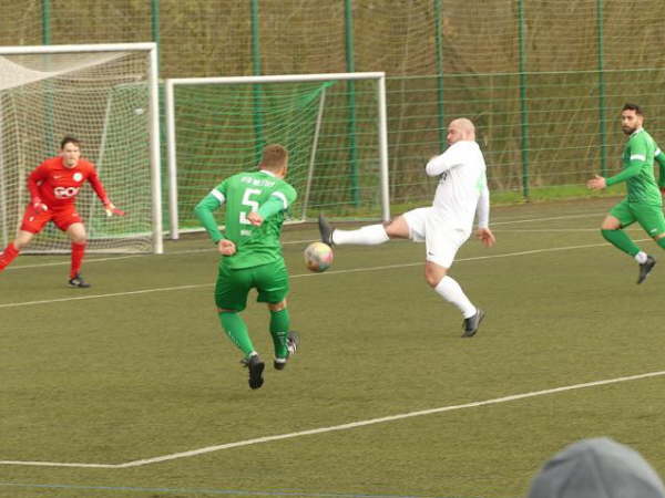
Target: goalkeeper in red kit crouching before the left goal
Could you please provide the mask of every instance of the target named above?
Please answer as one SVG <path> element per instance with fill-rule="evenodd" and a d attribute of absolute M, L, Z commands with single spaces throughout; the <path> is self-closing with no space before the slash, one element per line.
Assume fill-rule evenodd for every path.
<path fill-rule="evenodd" d="M 0 252 L 0 271 L 19 256 L 49 221 L 65 231 L 72 241 L 72 263 L 69 284 L 88 288 L 79 271 L 85 253 L 85 226 L 76 212 L 75 198 L 85 181 L 89 181 L 104 204 L 106 216 L 123 216 L 106 196 L 92 163 L 81 158 L 81 143 L 71 136 L 60 142 L 60 155 L 51 157 L 32 170 L 28 177 L 30 204 L 17 238 Z"/>

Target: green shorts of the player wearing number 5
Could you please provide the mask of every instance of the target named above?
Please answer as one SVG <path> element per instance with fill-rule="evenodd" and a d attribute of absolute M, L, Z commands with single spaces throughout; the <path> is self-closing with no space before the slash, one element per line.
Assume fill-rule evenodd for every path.
<path fill-rule="evenodd" d="M 224 310 L 243 311 L 247 294 L 258 292 L 258 302 L 277 303 L 288 294 L 288 271 L 284 259 L 253 268 L 232 269 L 219 263 L 215 284 L 215 303 Z"/>

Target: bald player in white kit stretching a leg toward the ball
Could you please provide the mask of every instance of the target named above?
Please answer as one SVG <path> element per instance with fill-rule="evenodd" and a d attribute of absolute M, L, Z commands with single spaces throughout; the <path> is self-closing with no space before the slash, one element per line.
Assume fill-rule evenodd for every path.
<path fill-rule="evenodd" d="M 489 228 L 487 166 L 475 143 L 473 123 L 466 117 L 450 122 L 448 144 L 446 152 L 432 157 L 426 166 L 429 176 L 440 178 L 432 206 L 407 211 L 386 225 L 369 225 L 357 230 L 335 229 L 319 216 L 319 230 L 321 240 L 330 246 L 374 246 L 393 238 L 424 241 L 424 279 L 439 295 L 461 311 L 462 338 L 470 338 L 478 331 L 484 312 L 467 298 L 460 284 L 448 276 L 448 270 L 458 249 L 471 236 L 475 215 L 475 234 L 482 243 L 491 247 L 495 238 Z"/>

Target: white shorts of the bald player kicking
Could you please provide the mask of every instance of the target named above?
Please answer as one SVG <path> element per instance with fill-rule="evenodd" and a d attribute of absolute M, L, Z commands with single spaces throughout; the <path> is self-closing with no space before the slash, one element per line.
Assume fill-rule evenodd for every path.
<path fill-rule="evenodd" d="M 459 248 L 469 239 L 470 230 L 453 228 L 432 207 L 412 209 L 402 215 L 409 226 L 409 238 L 423 242 L 427 260 L 450 268 Z"/>

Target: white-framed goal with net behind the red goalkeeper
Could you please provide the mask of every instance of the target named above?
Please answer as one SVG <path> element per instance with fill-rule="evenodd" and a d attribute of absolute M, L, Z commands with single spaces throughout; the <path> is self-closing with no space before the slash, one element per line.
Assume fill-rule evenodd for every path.
<path fill-rule="evenodd" d="M 108 218 L 85 183 L 76 196 L 92 252 L 162 252 L 155 44 L 0 48 L 0 238 L 13 239 L 30 201 L 28 175 L 81 141 L 109 197 Z M 155 126 L 156 123 L 156 126 Z M 53 224 L 29 252 L 68 252 Z"/>

